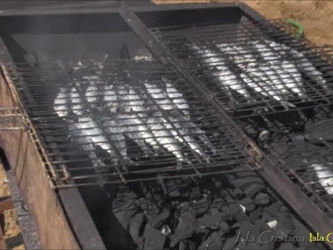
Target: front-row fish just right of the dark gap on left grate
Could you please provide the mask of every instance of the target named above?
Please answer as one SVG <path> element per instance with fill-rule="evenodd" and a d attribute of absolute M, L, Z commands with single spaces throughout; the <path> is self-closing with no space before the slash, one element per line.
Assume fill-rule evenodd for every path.
<path fill-rule="evenodd" d="M 182 154 L 182 149 L 178 144 L 178 141 L 167 128 L 167 122 L 163 121 L 161 113 L 156 113 L 155 117 L 149 117 L 147 124 L 150 126 L 157 142 L 159 142 L 164 149 L 167 149 L 167 151 L 176 156 L 178 160 L 178 167 L 180 167 L 180 163 L 189 162 L 189 160 L 187 160 Z"/>

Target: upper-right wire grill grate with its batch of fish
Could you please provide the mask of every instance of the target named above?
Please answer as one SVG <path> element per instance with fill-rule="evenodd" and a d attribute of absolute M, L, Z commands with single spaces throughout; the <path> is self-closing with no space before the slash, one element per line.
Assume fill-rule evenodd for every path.
<path fill-rule="evenodd" d="M 151 31 L 233 117 L 332 104 L 332 47 L 301 42 L 280 20 Z"/>

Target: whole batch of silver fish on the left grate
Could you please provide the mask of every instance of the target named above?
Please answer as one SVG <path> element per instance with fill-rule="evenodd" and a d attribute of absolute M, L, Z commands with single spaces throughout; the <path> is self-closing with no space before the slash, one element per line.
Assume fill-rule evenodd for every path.
<path fill-rule="evenodd" d="M 103 71 L 101 64 L 99 68 Z M 54 100 L 53 109 L 67 121 L 71 140 L 87 153 L 96 171 L 106 169 L 96 147 L 108 152 L 114 164 L 119 160 L 135 164 L 128 156 L 126 138 L 146 156 L 167 151 L 176 157 L 178 167 L 189 163 L 184 146 L 209 162 L 207 150 L 215 153 L 216 149 L 191 122 L 189 104 L 173 82 L 168 78 L 137 79 L 135 84 L 117 77 L 108 80 L 100 74 L 83 76 L 60 88 Z"/>

